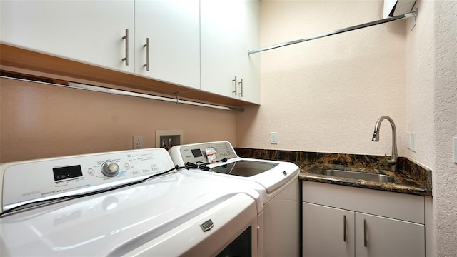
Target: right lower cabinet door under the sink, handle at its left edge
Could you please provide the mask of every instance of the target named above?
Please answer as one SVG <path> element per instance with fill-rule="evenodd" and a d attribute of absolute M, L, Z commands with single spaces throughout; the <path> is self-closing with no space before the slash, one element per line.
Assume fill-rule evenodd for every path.
<path fill-rule="evenodd" d="M 422 224 L 356 213 L 356 256 L 425 256 Z"/>

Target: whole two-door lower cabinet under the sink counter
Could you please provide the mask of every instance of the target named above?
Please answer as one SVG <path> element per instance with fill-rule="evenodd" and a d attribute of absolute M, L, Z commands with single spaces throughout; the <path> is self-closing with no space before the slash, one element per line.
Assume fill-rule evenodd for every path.
<path fill-rule="evenodd" d="M 303 181 L 303 256 L 425 256 L 423 199 Z"/>

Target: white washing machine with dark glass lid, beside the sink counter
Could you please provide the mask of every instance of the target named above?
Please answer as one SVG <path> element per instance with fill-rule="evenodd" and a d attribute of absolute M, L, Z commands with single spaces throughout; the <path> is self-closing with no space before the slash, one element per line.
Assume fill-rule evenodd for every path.
<path fill-rule="evenodd" d="M 261 256 L 298 256 L 300 252 L 300 189 L 298 166 L 283 161 L 241 158 L 228 141 L 174 146 L 170 156 L 189 172 L 214 181 L 258 191 Z"/>

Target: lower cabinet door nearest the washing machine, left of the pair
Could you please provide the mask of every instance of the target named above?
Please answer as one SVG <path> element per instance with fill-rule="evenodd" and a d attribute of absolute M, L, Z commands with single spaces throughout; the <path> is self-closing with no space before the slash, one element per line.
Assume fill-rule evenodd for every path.
<path fill-rule="evenodd" d="M 303 203 L 303 256 L 354 256 L 354 212 Z"/>

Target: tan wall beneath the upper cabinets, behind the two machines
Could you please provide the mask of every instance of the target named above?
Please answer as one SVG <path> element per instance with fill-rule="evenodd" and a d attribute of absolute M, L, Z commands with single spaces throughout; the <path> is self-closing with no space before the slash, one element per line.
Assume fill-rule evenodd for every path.
<path fill-rule="evenodd" d="M 0 163 L 155 147 L 156 129 L 184 143 L 235 143 L 236 112 L 0 79 Z M 204 122 L 202 122 L 204 121 Z"/>

